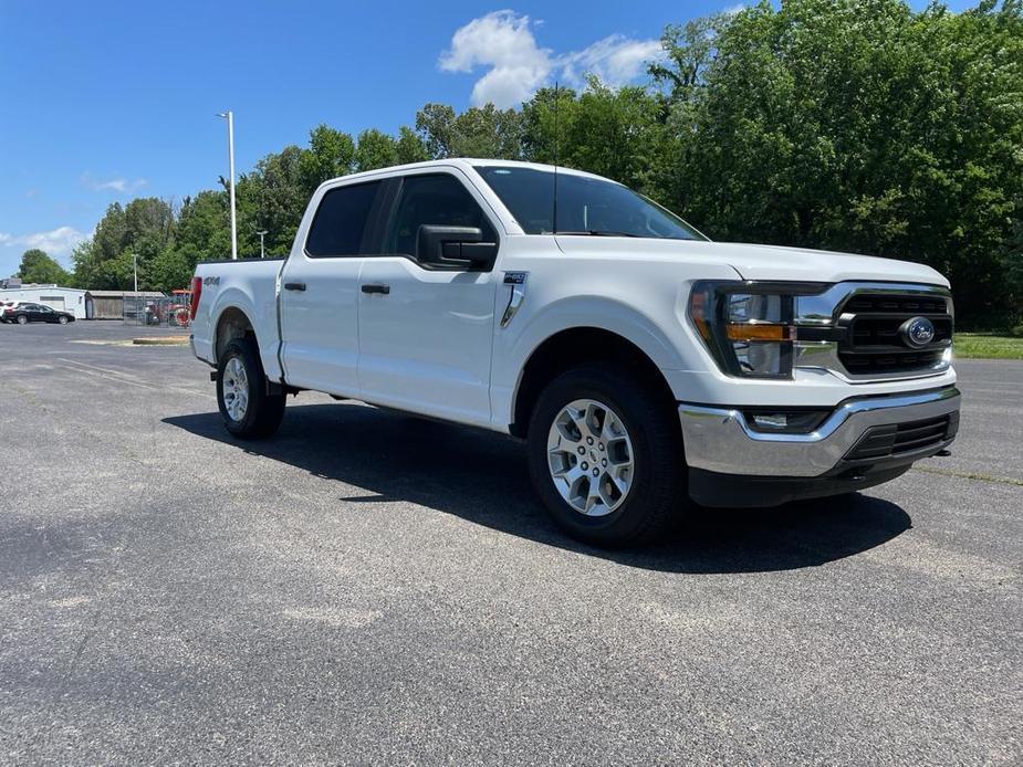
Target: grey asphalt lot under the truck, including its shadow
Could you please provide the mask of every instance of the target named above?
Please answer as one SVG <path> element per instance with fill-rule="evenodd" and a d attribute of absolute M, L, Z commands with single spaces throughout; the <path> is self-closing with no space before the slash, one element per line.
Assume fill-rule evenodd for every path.
<path fill-rule="evenodd" d="M 950 458 L 606 553 L 511 440 L 237 442 L 139 332 L 0 326 L 0 764 L 1023 764 L 1023 363 Z"/>

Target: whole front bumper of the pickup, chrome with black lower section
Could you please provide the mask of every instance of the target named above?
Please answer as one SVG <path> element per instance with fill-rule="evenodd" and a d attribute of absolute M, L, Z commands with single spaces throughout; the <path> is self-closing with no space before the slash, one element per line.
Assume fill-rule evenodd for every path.
<path fill-rule="evenodd" d="M 678 411 L 690 470 L 690 495 L 706 505 L 774 505 L 793 497 L 828 495 L 886 482 L 914 461 L 933 455 L 952 442 L 959 427 L 960 399 L 959 390 L 952 386 L 849 399 L 805 434 L 758 431 L 739 409 L 683 402 Z M 895 434 L 900 425 L 908 432 L 917 423 L 927 424 L 920 428 L 930 439 L 898 443 Z M 936 425 L 940 423 L 943 430 Z M 886 452 L 889 444 L 891 450 Z M 853 481 L 852 486 L 844 484 L 847 480 Z M 726 493 L 729 483 L 737 488 L 749 485 L 752 492 Z M 769 492 L 772 486 L 783 492 Z M 749 503 L 738 503 L 747 495 L 751 496 Z M 716 503 L 719 496 L 729 500 Z"/>

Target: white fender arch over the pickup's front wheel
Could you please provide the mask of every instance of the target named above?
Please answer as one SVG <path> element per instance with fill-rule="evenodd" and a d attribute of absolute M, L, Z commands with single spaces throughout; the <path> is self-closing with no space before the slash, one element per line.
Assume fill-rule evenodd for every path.
<path fill-rule="evenodd" d="M 603 327 L 571 327 L 545 338 L 526 359 L 513 396 L 509 432 L 524 438 L 530 413 L 543 388 L 562 372 L 594 359 L 631 370 L 649 384 L 658 397 L 675 401 L 660 368 L 635 342 Z"/>

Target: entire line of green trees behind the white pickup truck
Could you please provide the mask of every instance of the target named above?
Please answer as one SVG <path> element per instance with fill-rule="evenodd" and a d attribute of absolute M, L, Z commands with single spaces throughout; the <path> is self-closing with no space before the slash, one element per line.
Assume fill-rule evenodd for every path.
<path fill-rule="evenodd" d="M 286 253 L 324 180 L 445 157 L 622 181 L 716 240 L 869 253 L 952 281 L 961 326 L 1023 311 L 1023 0 L 763 0 L 669 25 L 644 85 L 545 87 L 518 109 L 427 104 L 396 135 L 320 125 L 237 183 L 239 252 Z M 556 136 L 555 136 L 556 125 Z M 556 138 L 556 141 L 555 141 Z M 221 188 L 112 204 L 73 254 L 87 287 L 187 285 L 230 252 Z M 38 258 L 36 258 L 38 261 Z"/>

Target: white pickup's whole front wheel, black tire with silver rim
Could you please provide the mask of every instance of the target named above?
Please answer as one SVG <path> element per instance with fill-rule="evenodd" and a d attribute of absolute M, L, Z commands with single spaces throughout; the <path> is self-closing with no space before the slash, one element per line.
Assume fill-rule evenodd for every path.
<path fill-rule="evenodd" d="M 529 427 L 530 475 L 576 538 L 639 546 L 681 518 L 686 466 L 671 402 L 641 377 L 580 367 L 543 390 Z"/>

